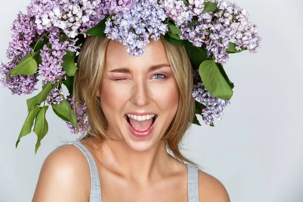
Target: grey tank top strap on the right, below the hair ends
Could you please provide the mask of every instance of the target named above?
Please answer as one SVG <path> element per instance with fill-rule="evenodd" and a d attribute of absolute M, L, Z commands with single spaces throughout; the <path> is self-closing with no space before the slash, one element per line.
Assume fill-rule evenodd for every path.
<path fill-rule="evenodd" d="M 188 202 L 199 202 L 199 189 L 198 189 L 198 168 L 187 164 L 187 194 Z"/>

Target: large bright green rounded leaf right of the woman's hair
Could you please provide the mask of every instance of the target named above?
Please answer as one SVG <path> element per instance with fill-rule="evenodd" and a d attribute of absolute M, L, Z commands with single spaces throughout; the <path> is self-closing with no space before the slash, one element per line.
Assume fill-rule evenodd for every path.
<path fill-rule="evenodd" d="M 233 91 L 222 76 L 214 60 L 207 60 L 201 63 L 199 75 L 205 88 L 214 96 L 221 99 L 229 100 Z"/>

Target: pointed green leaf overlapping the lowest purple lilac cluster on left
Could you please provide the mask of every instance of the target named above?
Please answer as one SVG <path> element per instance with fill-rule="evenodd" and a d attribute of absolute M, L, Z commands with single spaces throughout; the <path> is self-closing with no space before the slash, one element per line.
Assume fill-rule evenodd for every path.
<path fill-rule="evenodd" d="M 60 118 L 65 117 L 71 124 L 73 124 L 77 128 L 77 131 L 79 131 L 76 117 L 64 96 L 63 96 L 63 100 L 61 100 L 59 105 L 52 104 L 52 107 L 58 114 L 61 115 L 59 116 Z"/>

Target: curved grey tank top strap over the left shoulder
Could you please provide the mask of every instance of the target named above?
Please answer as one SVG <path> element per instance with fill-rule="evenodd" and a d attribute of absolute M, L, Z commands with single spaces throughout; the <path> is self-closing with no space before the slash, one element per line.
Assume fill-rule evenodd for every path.
<path fill-rule="evenodd" d="M 92 155 L 90 154 L 89 150 L 80 141 L 69 141 L 60 146 L 63 146 L 65 144 L 73 144 L 76 147 L 78 147 L 82 151 L 82 153 L 84 154 L 84 156 L 86 157 L 86 159 L 88 161 L 89 171 L 90 171 L 89 202 L 102 202 L 98 169 L 97 169 L 96 163 L 95 163 Z"/>

